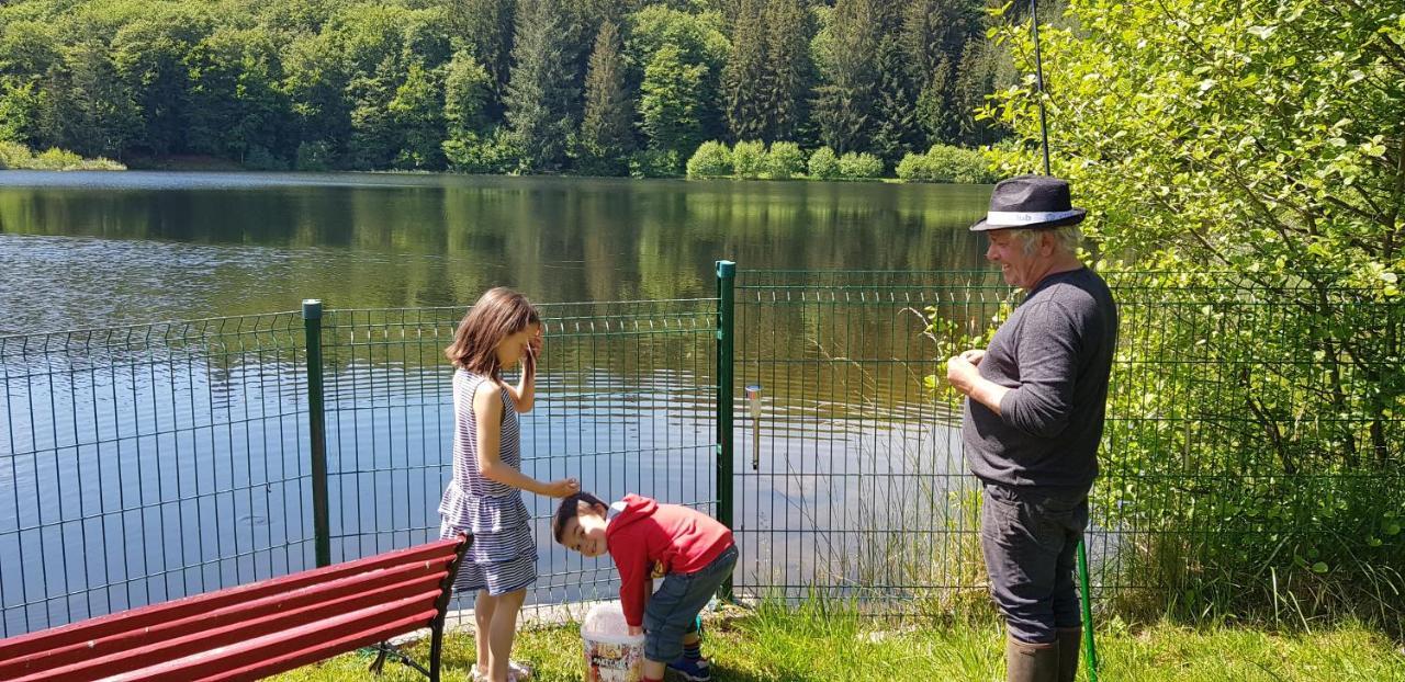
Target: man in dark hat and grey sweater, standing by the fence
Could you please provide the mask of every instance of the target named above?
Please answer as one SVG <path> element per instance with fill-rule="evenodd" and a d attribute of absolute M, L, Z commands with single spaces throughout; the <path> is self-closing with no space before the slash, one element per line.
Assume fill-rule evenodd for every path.
<path fill-rule="evenodd" d="M 995 185 L 986 258 L 1027 292 L 985 349 L 947 362 L 967 396 L 961 435 L 984 486 L 981 549 L 1005 615 L 1010 682 L 1072 681 L 1082 634 L 1075 550 L 1097 476 L 1117 306 L 1076 251 L 1085 210 L 1068 182 L 1023 175 Z"/>

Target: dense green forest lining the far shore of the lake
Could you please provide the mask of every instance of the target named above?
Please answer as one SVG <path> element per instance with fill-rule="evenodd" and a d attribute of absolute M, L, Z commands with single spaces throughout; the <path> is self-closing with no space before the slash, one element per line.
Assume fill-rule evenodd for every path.
<path fill-rule="evenodd" d="M 892 170 L 1005 131 L 988 0 L 20 0 L 0 142 L 247 168 L 681 174 L 707 140 Z M 1047 3 L 1054 4 L 1054 3 Z M 993 34 L 993 32 L 992 32 Z"/>

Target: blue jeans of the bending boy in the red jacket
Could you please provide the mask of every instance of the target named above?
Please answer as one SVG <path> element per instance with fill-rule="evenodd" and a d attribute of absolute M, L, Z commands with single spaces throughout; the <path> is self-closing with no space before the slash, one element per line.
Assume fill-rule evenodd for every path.
<path fill-rule="evenodd" d="M 669 662 L 683 655 L 683 636 L 697 631 L 697 617 L 736 567 L 736 544 L 694 573 L 670 573 L 643 605 L 643 657 Z"/>

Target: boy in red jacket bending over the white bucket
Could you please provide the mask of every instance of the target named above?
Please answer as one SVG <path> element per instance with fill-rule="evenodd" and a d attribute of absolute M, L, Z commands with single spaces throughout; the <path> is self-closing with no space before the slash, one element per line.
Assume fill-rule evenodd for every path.
<path fill-rule="evenodd" d="M 629 634 L 645 634 L 645 682 L 662 682 L 665 664 L 693 682 L 712 679 L 697 616 L 736 566 L 731 529 L 648 497 L 625 495 L 607 507 L 590 493 L 576 493 L 561 501 L 551 530 L 562 546 L 587 557 L 610 553 Z M 649 596 L 660 575 L 663 585 Z"/>

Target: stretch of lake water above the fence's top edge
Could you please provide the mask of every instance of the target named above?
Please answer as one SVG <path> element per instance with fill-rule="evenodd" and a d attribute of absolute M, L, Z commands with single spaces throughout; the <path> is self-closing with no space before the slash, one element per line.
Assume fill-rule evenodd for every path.
<path fill-rule="evenodd" d="M 0 334 L 329 307 L 714 295 L 742 269 L 967 269 L 988 187 L 0 173 Z"/>

